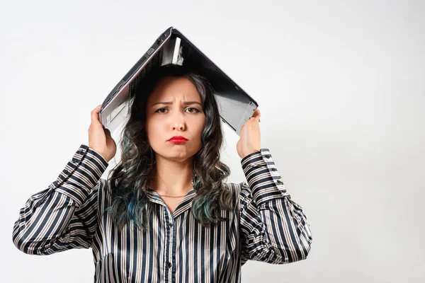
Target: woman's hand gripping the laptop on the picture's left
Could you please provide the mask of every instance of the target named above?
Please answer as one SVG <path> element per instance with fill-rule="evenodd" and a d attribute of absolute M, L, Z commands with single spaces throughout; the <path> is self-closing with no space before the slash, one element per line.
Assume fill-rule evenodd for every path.
<path fill-rule="evenodd" d="M 89 148 L 101 154 L 109 162 L 117 151 L 117 145 L 111 137 L 111 131 L 103 127 L 99 120 L 101 105 L 91 111 L 91 124 L 89 127 Z"/>

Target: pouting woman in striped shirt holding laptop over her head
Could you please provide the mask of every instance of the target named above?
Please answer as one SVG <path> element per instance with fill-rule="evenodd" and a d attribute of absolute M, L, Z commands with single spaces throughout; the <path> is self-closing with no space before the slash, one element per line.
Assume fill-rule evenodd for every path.
<path fill-rule="evenodd" d="M 237 142 L 247 183 L 225 183 L 219 110 L 202 76 L 162 67 L 140 83 L 108 180 L 101 175 L 116 145 L 99 109 L 89 146 L 21 209 L 17 248 L 92 248 L 94 282 L 240 282 L 246 260 L 307 258 L 310 226 L 261 149 L 258 110 Z"/>

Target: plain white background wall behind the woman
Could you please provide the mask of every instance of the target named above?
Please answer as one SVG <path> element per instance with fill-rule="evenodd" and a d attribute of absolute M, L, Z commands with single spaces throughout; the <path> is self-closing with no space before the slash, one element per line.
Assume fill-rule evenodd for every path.
<path fill-rule="evenodd" d="M 1 282 L 93 282 L 91 250 L 26 255 L 13 223 L 169 26 L 257 100 L 312 229 L 307 260 L 247 262 L 242 282 L 424 282 L 424 1 L 26 2 L 0 8 Z"/>

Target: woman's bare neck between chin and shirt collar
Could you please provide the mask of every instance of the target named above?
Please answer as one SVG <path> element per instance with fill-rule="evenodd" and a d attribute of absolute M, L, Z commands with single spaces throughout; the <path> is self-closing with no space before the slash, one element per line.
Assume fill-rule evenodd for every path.
<path fill-rule="evenodd" d="M 192 190 L 192 158 L 170 161 L 157 156 L 157 174 L 148 182 L 159 195 L 181 196 Z"/>

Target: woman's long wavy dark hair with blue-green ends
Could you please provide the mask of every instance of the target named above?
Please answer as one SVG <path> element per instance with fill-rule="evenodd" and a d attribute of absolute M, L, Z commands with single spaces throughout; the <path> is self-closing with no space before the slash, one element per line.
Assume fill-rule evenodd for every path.
<path fill-rule="evenodd" d="M 166 76 L 184 77 L 191 81 L 200 94 L 206 116 L 201 134 L 202 147 L 193 156 L 193 189 L 196 195 L 191 213 L 203 226 L 217 224 L 227 218 L 221 209 L 232 211 L 232 192 L 224 185 L 230 174 L 229 167 L 220 161 L 222 128 L 214 90 L 209 81 L 183 67 L 159 67 L 142 79 L 130 100 L 130 117 L 123 129 L 120 162 L 108 174 L 111 188 L 111 219 L 118 229 L 131 221 L 144 231 L 149 230 L 149 219 L 155 212 L 154 204 L 147 198 L 147 181 L 157 173 L 155 153 L 147 139 L 145 129 L 147 98 L 160 79 Z"/>

